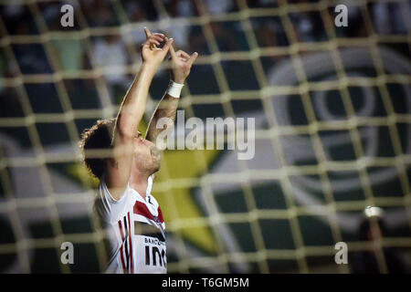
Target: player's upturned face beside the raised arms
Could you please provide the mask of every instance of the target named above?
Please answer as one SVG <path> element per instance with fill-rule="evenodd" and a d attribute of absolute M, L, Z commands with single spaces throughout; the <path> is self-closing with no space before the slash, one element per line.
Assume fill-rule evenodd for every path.
<path fill-rule="evenodd" d="M 152 141 L 143 139 L 140 131 L 134 137 L 133 147 L 133 158 L 134 163 L 137 163 L 137 168 L 145 169 L 152 173 L 160 169 L 160 151 L 158 151 Z"/>

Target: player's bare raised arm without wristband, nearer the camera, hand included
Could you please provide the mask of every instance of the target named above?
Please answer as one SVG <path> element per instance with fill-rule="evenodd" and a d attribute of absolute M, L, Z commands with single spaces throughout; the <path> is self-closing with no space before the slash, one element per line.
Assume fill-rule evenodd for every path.
<path fill-rule="evenodd" d="M 144 30 L 147 34 L 148 30 Z M 163 41 L 163 48 L 157 47 Z M 133 140 L 139 138 L 137 129 L 144 114 L 153 76 L 172 44 L 172 38 L 154 34 L 148 36 L 142 45 L 142 67 L 122 101 L 113 134 L 112 157 L 106 163 L 105 183 L 116 200 L 121 198 L 130 179 Z"/>

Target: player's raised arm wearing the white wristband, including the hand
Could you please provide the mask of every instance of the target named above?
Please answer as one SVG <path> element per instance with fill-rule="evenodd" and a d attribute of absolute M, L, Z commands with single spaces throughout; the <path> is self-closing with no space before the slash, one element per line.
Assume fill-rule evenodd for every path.
<path fill-rule="evenodd" d="M 174 125 L 175 112 L 178 107 L 181 89 L 183 88 L 185 78 L 190 74 L 191 67 L 195 62 L 198 54 L 195 52 L 191 56 L 183 50 L 174 51 L 174 47 L 170 47 L 170 62 L 171 62 L 171 81 L 169 88 L 165 92 L 163 99 L 154 110 L 152 120 L 147 130 L 146 139 L 157 143 L 157 137 L 160 132 L 166 127 Z M 168 118 L 169 122 L 163 127 L 158 127 L 157 121 L 162 118 Z M 165 141 L 162 141 L 165 142 Z M 157 145 L 158 146 L 158 145 Z"/>

